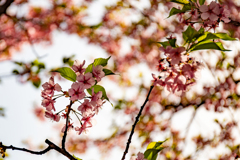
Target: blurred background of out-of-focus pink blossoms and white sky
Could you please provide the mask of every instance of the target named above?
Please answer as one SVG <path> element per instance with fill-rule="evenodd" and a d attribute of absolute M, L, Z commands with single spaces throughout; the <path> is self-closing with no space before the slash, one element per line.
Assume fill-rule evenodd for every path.
<path fill-rule="evenodd" d="M 211 1 L 206 1 L 209 4 Z M 221 0 L 231 22 L 216 32 L 240 37 L 240 4 Z M 106 102 L 88 134 L 70 131 L 67 150 L 81 159 L 120 159 L 134 119 L 157 72 L 161 57 L 156 42 L 173 35 L 182 43 L 186 25 L 167 18 L 168 0 L 1 0 L 0 1 L 0 141 L 32 150 L 44 149 L 45 139 L 61 144 L 64 121 L 44 117 L 41 85 L 50 70 L 75 59 L 111 56 L 108 68 L 116 75 L 103 79 L 113 106 Z M 151 141 L 163 141 L 159 159 L 235 159 L 240 145 L 239 41 L 224 42 L 229 52 L 195 51 L 204 67 L 197 82 L 179 96 L 155 87 L 137 124 L 130 152 L 144 152 Z M 64 90 L 71 83 L 55 76 Z M 67 105 L 59 99 L 56 109 Z M 61 107 L 63 106 L 63 107 Z M 77 107 L 77 106 L 76 106 Z M 55 151 L 31 155 L 7 151 L 5 159 L 66 159 Z"/>

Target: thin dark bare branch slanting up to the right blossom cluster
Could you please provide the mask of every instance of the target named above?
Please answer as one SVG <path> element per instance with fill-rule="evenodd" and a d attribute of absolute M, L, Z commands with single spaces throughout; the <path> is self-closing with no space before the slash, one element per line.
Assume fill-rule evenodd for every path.
<path fill-rule="evenodd" d="M 137 125 L 137 122 L 139 121 L 139 117 L 140 117 L 141 114 L 142 114 L 143 108 L 145 107 L 145 105 L 147 104 L 147 102 L 148 102 L 148 100 L 149 100 L 149 95 L 150 95 L 153 87 L 154 87 L 153 85 L 150 87 L 150 90 L 149 90 L 149 92 L 148 92 L 148 95 L 147 95 L 147 97 L 146 97 L 146 100 L 144 101 L 143 105 L 141 106 L 141 109 L 140 109 L 140 111 L 139 111 L 139 113 L 138 113 L 138 115 L 137 115 L 137 117 L 136 117 L 136 120 L 135 120 L 134 124 L 132 125 L 132 130 L 131 130 L 131 133 L 130 133 L 130 135 L 129 135 L 128 141 L 127 141 L 126 149 L 125 149 L 125 151 L 124 151 L 124 153 L 123 153 L 122 160 L 125 159 L 125 156 L 126 156 L 127 153 L 128 153 L 128 149 L 129 149 L 129 146 L 130 146 L 130 143 L 131 143 L 131 139 L 132 139 L 132 136 L 133 136 L 133 133 L 134 133 L 134 129 L 135 129 L 136 125 Z"/>

